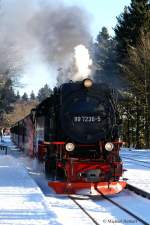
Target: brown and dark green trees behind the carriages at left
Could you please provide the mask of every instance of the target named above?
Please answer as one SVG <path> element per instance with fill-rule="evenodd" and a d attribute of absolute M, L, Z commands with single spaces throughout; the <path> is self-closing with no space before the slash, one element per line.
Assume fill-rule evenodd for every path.
<path fill-rule="evenodd" d="M 37 95 L 33 91 L 30 95 L 26 92 L 20 95 L 19 92 L 14 91 L 14 86 L 15 84 L 8 78 L 0 87 L 0 128 L 10 127 L 27 116 L 31 109 L 52 93 L 47 84 L 39 89 Z"/>

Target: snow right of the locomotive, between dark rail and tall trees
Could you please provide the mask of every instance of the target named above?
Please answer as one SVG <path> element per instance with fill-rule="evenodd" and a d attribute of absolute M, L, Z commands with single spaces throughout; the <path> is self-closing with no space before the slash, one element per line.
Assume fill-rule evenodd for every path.
<path fill-rule="evenodd" d="M 124 172 L 124 177 L 128 179 L 127 182 L 150 193 L 150 151 L 122 149 L 121 156 L 123 166 L 127 169 Z M 128 157 L 131 159 L 128 159 Z M 133 161 L 132 159 L 142 162 Z"/>

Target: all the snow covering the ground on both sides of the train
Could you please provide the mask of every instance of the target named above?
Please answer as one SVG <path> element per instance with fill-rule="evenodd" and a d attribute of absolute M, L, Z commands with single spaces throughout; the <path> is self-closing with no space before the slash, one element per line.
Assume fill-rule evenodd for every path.
<path fill-rule="evenodd" d="M 70 198 L 54 194 L 47 185 L 42 164 L 18 151 L 9 137 L 5 137 L 3 144 L 9 146 L 9 149 L 8 155 L 0 150 L 0 224 L 94 224 Z M 133 152 L 133 154 L 133 158 L 148 160 L 149 152 L 145 153 L 143 158 L 141 156 L 143 152 Z M 132 152 L 123 150 L 122 156 L 132 157 Z M 128 159 L 124 159 L 124 166 L 128 169 L 125 177 L 128 177 L 129 182 L 134 182 L 134 184 L 134 174 L 136 174 L 137 181 L 145 180 L 145 174 L 148 176 L 150 170 Z M 103 198 L 91 200 L 87 196 L 74 197 L 77 197 L 76 201 L 100 225 L 142 224 Z M 113 196 L 112 199 L 139 215 L 147 221 L 147 224 L 149 223 L 149 200 L 128 190 Z"/>

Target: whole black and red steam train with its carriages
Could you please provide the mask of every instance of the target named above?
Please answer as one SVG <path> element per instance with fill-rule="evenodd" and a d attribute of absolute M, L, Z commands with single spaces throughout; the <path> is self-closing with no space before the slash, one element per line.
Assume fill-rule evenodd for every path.
<path fill-rule="evenodd" d="M 111 90 L 91 79 L 65 83 L 12 128 L 13 141 L 45 165 L 56 193 L 115 194 L 125 187 L 120 119 Z"/>

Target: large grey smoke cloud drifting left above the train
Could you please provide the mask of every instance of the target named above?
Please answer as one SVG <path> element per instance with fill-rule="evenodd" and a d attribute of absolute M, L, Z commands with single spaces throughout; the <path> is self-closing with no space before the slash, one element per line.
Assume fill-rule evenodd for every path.
<path fill-rule="evenodd" d="M 45 70 L 67 68 L 74 48 L 89 43 L 89 15 L 78 6 L 62 0 L 55 4 L 52 0 L 2 0 L 0 4 L 0 73 L 27 74 L 39 65 Z"/>

